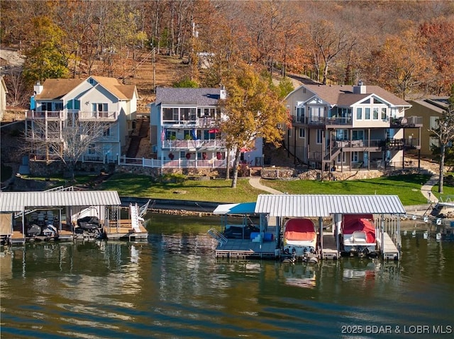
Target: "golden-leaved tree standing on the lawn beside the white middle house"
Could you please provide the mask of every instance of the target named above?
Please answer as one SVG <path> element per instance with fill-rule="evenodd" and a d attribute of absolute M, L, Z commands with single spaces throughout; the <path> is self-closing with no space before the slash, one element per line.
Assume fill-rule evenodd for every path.
<path fill-rule="evenodd" d="M 221 132 L 227 148 L 235 151 L 231 187 L 236 188 L 241 149 L 253 149 L 260 137 L 278 146 L 283 135 L 279 126 L 287 124 L 288 117 L 276 88 L 253 68 L 237 67 L 224 83 L 227 98 L 221 107 L 226 120 L 221 122 Z"/>

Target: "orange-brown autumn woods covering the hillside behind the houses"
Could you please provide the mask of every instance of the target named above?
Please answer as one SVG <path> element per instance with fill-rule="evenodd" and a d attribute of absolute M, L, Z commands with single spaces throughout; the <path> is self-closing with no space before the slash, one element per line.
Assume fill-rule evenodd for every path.
<path fill-rule="evenodd" d="M 404 99 L 454 84 L 452 1 L 5 0 L 0 9 L 2 47 L 25 57 L 4 70 L 13 107 L 26 107 L 35 81 L 101 75 L 136 84 L 144 112 L 153 86 L 217 87 L 240 63 L 321 84 L 362 80 Z"/>

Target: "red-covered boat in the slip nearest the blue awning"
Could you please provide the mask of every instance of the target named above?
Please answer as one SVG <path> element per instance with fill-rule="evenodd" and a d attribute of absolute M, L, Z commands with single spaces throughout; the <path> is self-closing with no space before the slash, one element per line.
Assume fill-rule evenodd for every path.
<path fill-rule="evenodd" d="M 307 255 L 315 253 L 317 234 L 311 219 L 289 219 L 284 228 L 284 253 Z"/>

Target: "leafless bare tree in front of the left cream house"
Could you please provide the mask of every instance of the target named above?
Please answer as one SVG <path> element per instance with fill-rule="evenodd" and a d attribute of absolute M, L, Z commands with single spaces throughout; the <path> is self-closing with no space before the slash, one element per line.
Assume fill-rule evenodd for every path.
<path fill-rule="evenodd" d="M 46 161 L 60 160 L 67 166 L 74 181 L 74 167 L 84 154 L 101 155 L 99 139 L 112 127 L 99 121 L 81 121 L 77 118 L 50 121 L 35 119 L 26 129 L 26 148 L 44 156 Z"/>

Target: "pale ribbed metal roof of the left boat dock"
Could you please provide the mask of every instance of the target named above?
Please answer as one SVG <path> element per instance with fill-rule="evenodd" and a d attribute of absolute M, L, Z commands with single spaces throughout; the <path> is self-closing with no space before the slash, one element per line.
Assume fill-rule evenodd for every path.
<path fill-rule="evenodd" d="M 121 200 L 114 190 L 0 192 L 0 212 L 65 206 L 121 206 Z"/>

